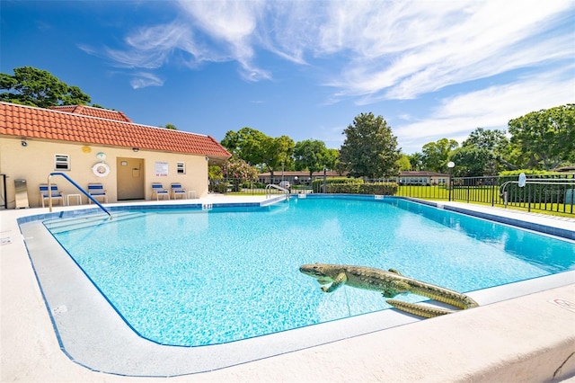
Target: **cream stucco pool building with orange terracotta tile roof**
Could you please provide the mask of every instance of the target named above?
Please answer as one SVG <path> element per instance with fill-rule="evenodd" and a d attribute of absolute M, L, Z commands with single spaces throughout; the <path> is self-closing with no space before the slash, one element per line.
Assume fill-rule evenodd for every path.
<path fill-rule="evenodd" d="M 25 180 L 29 206 L 41 206 L 39 185 L 53 172 L 84 188 L 102 183 L 110 202 L 156 198 L 152 183 L 181 183 L 195 191 L 186 196 L 200 197 L 208 193 L 208 164 L 230 156 L 214 138 L 139 125 L 119 111 L 0 102 L 0 206 L 8 208 L 16 207 L 14 180 Z M 52 180 L 65 195 L 79 192 L 63 177 Z"/>

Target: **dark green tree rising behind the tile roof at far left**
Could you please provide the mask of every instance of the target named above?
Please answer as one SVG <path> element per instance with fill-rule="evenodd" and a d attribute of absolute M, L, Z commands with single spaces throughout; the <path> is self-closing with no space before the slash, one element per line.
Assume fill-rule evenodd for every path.
<path fill-rule="evenodd" d="M 35 67 L 14 68 L 14 76 L 1 74 L 0 100 L 49 108 L 57 105 L 85 105 L 90 96 L 77 86 L 60 81 L 46 70 Z"/>

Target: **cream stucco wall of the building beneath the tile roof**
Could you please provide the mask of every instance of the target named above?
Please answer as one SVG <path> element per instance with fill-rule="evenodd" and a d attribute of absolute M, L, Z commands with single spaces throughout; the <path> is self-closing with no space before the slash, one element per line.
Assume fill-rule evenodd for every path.
<path fill-rule="evenodd" d="M 190 156 L 177 153 L 151 152 L 131 148 L 102 147 L 82 144 L 68 144 L 53 141 L 27 139 L 27 146 L 22 146 L 20 138 L 0 137 L 0 174 L 6 174 L 6 191 L 8 209 L 15 208 L 14 180 L 25 179 L 28 184 L 28 200 L 30 207 L 41 206 L 40 183 L 47 183 L 52 172 L 60 172 L 54 168 L 54 155 L 70 156 L 71 170 L 62 171 L 75 183 L 87 188 L 88 183 L 102 183 L 108 193 L 108 201 L 118 200 L 118 180 L 116 171 L 117 157 L 144 159 L 144 183 L 146 200 L 152 198 L 152 183 L 163 183 L 168 189 L 170 183 L 181 183 L 186 190 L 196 191 L 196 196 L 208 193 L 208 161 L 205 156 Z M 96 155 L 102 152 L 106 155 L 105 163 L 111 172 L 105 177 L 93 174 L 92 167 L 100 160 Z M 155 162 L 168 163 L 168 175 L 155 175 Z M 177 174 L 176 163 L 183 162 L 186 174 Z M 58 188 L 66 193 L 78 192 L 65 178 L 54 176 L 51 183 L 57 183 Z M 86 199 L 83 198 L 84 203 Z"/>

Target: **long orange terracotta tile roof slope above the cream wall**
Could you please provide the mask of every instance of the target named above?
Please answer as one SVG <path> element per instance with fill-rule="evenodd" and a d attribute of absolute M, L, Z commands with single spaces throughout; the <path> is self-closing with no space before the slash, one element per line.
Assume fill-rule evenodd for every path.
<path fill-rule="evenodd" d="M 231 156 L 209 136 L 7 102 L 0 102 L 0 135 L 138 147 L 217 159 Z"/>

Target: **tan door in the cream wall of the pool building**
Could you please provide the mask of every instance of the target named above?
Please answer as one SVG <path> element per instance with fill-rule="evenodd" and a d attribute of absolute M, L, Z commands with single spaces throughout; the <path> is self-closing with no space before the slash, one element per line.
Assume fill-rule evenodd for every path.
<path fill-rule="evenodd" d="M 118 200 L 144 200 L 144 158 L 118 157 Z"/>

